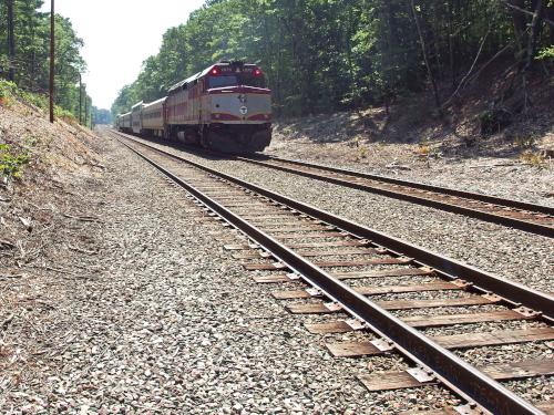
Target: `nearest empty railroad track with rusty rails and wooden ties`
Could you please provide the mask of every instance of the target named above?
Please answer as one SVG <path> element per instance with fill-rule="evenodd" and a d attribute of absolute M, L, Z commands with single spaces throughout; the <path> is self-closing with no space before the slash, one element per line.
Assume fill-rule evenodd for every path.
<path fill-rule="evenodd" d="M 525 402 L 499 382 L 552 376 L 554 360 L 530 359 L 474 367 L 454 352 L 493 345 L 538 347 L 554 340 L 554 298 L 429 252 L 384 234 L 216 172 L 132 136 L 131 151 L 192 195 L 211 215 L 238 230 L 226 249 L 259 283 L 290 283 L 274 297 L 293 313 L 347 314 L 312 333 L 360 331 L 368 339 L 327 344 L 337 357 L 400 353 L 404 371 L 360 374 L 370 391 L 440 384 L 464 404 L 442 413 L 541 414 L 552 403 Z M 122 139 L 123 138 L 123 139 Z M 230 238 L 230 239 L 229 239 Z M 387 283 L 387 281 L 401 283 Z M 409 297 L 403 297 L 409 294 Z M 448 313 L 437 313 L 449 310 Z M 507 330 L 479 331 L 503 322 Z M 433 328 L 474 326 L 466 334 L 430 335 Z"/>

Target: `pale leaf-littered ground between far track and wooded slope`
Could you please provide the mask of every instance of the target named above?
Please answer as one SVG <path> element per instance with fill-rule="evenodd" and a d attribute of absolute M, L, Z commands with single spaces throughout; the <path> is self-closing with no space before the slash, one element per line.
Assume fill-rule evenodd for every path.
<path fill-rule="evenodd" d="M 271 145 L 264 153 L 339 168 L 416 180 L 455 189 L 484 193 L 504 198 L 554 206 L 554 129 L 552 120 L 538 145 L 550 156 L 536 157 L 540 148 L 517 148 L 503 141 L 484 139 L 476 147 L 460 147 L 459 139 L 434 143 L 400 143 L 393 139 L 368 143 L 352 139 L 339 128 L 336 136 L 318 135 L 320 124 L 332 117 L 320 117 L 304 134 L 295 127 L 274 128 Z M 308 138 L 307 135 L 310 137 Z M 328 139 L 326 139 L 328 138 Z M 330 138 L 330 139 L 329 139 Z M 478 137 L 478 141 L 482 138 Z M 536 143 L 538 144 L 538 143 Z M 530 155 L 535 157 L 526 157 Z"/>

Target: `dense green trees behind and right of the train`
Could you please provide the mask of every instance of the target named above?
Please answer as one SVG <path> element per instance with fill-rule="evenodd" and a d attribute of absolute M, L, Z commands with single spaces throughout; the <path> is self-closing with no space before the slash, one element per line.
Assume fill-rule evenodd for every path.
<path fill-rule="evenodd" d="M 547 0 L 211 0 L 166 31 L 112 113 L 222 59 L 260 64 L 278 114 L 387 104 L 430 81 L 452 93 L 474 61 L 551 58 L 552 20 Z"/>

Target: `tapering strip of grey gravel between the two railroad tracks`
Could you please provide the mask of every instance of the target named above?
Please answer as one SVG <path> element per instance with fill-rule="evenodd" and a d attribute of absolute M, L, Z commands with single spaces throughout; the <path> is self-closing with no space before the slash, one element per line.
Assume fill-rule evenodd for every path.
<path fill-rule="evenodd" d="M 244 162 L 184 155 L 375 230 L 534 289 L 553 291 L 554 241 L 551 238 Z"/>

